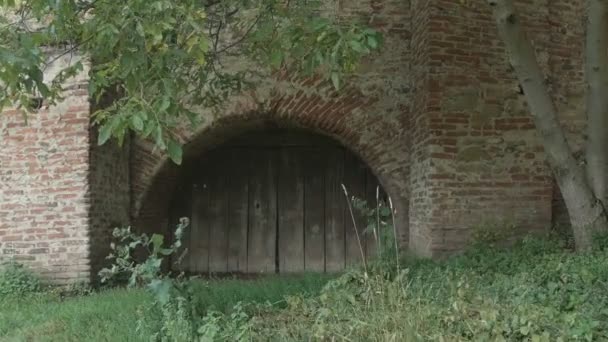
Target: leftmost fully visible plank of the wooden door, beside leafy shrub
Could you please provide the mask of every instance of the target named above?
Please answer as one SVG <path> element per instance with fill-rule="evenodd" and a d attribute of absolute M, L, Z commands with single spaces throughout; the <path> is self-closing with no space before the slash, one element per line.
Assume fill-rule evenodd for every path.
<path fill-rule="evenodd" d="M 199 171 L 200 172 L 200 171 Z M 189 243 L 189 270 L 193 273 L 209 271 L 209 211 L 208 177 L 201 175 L 192 185 L 192 226 Z"/>

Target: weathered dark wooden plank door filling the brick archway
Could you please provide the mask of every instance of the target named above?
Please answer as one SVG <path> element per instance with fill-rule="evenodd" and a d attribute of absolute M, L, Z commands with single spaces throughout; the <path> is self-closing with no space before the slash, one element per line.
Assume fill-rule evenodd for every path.
<path fill-rule="evenodd" d="M 206 153 L 191 169 L 186 257 L 193 273 L 335 272 L 361 262 L 341 184 L 375 203 L 378 182 L 333 141 L 290 131 L 244 136 Z M 364 222 L 356 215 L 361 231 Z M 365 253 L 374 242 L 364 238 Z"/>

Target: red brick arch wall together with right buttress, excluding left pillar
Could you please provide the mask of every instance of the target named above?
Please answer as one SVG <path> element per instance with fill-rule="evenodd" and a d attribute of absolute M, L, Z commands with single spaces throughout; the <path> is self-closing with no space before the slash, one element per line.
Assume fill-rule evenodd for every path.
<path fill-rule="evenodd" d="M 561 84 L 551 89 L 580 145 L 581 103 L 566 99 L 583 81 L 582 1 L 548 5 L 520 1 L 518 9 L 548 79 Z M 389 193 L 401 195 L 403 240 L 423 255 L 462 249 L 480 224 L 548 229 L 561 209 L 552 205 L 552 176 L 487 4 L 342 1 L 337 11 L 345 19 L 371 19 L 387 37 L 350 93 L 328 94 L 314 81 L 288 91 L 279 79 L 199 131 L 184 130 L 188 148 L 200 152 L 262 118 L 333 136 L 362 156 Z M 179 173 L 148 150 L 136 144 L 142 166 L 133 171 L 134 208 L 166 226 L 160 216 L 167 199 L 159 194 L 174 187 Z"/>

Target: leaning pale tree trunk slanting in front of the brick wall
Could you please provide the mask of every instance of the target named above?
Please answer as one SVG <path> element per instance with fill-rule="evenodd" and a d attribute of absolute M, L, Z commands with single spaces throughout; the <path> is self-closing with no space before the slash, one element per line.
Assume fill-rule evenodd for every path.
<path fill-rule="evenodd" d="M 608 231 L 608 217 L 587 184 L 585 171 L 574 158 L 557 118 L 534 48 L 515 13 L 512 0 L 487 0 L 499 34 L 524 90 L 549 166 L 561 189 L 574 232 L 576 248 L 592 246 L 593 235 Z"/>

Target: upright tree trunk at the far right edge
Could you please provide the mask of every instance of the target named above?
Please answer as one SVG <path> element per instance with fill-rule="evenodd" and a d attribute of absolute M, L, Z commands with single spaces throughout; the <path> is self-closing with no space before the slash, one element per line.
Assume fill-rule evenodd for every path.
<path fill-rule="evenodd" d="M 587 11 L 587 178 L 608 208 L 608 0 L 589 0 Z"/>

